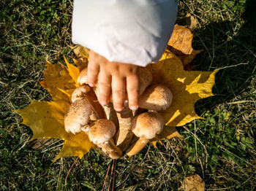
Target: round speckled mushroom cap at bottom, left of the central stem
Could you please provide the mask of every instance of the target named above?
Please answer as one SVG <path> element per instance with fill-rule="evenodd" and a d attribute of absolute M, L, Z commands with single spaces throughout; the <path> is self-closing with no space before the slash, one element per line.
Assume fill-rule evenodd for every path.
<path fill-rule="evenodd" d="M 94 144 L 104 144 L 109 141 L 116 133 L 116 125 L 110 121 L 101 119 L 95 122 L 95 124 L 89 130 L 89 139 Z"/>

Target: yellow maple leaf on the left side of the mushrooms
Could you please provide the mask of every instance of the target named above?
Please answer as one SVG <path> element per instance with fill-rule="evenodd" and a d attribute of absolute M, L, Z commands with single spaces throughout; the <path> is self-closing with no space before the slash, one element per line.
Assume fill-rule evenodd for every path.
<path fill-rule="evenodd" d="M 47 63 L 47 70 L 44 71 L 45 78 L 40 84 L 49 91 L 53 101 L 31 101 L 29 106 L 13 112 L 20 114 L 23 117 L 22 123 L 28 125 L 33 131 L 31 140 L 39 138 L 65 140 L 61 152 L 54 161 L 66 156 L 81 158 L 94 147 L 94 144 L 89 141 L 86 133 L 80 132 L 73 135 L 67 133 L 64 128 L 64 114 L 71 104 L 70 93 L 76 87 L 72 75 L 74 74 L 74 77 L 77 74 L 74 70 L 77 71 L 78 68 L 75 66 L 75 68 L 72 66 L 66 68 L 60 63 L 52 64 L 48 61 Z"/>

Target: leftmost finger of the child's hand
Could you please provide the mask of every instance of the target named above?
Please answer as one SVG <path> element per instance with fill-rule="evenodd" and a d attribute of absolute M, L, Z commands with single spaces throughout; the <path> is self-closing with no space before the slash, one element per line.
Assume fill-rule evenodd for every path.
<path fill-rule="evenodd" d="M 97 77 L 99 74 L 99 64 L 92 61 L 89 61 L 88 63 L 88 71 L 87 71 L 87 78 L 88 78 L 88 84 L 91 87 L 94 87 L 97 84 Z"/>

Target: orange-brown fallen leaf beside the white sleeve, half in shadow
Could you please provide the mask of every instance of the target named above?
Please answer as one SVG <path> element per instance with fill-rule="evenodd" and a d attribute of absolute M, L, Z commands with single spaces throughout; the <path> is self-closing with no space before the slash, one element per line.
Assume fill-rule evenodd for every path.
<path fill-rule="evenodd" d="M 176 25 L 168 42 L 167 49 L 181 60 L 184 67 L 191 63 L 195 56 L 202 51 L 192 48 L 192 39 L 193 34 L 189 28 Z"/>

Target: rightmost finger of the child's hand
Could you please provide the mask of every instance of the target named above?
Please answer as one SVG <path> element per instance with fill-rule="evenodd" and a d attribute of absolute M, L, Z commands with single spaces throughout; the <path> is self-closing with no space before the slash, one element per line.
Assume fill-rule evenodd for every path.
<path fill-rule="evenodd" d="M 138 75 L 127 77 L 127 94 L 129 100 L 129 109 L 138 109 L 138 92 L 140 79 Z"/>

